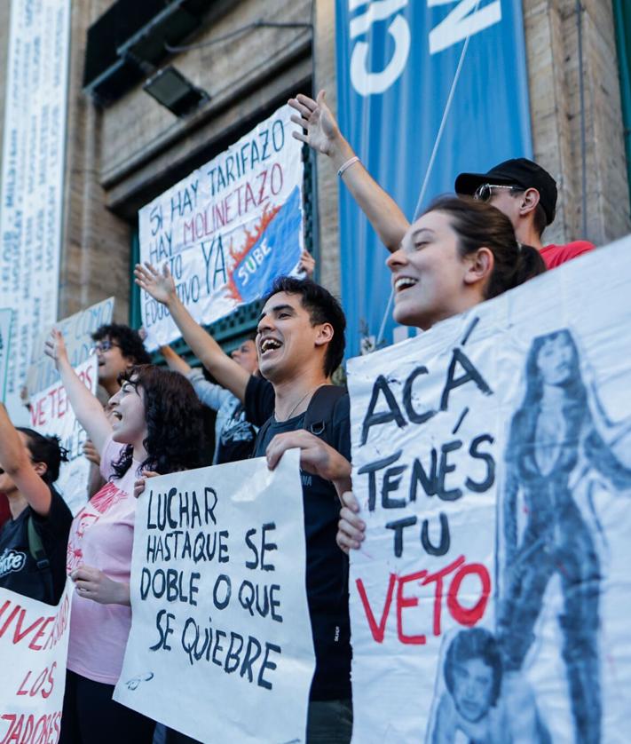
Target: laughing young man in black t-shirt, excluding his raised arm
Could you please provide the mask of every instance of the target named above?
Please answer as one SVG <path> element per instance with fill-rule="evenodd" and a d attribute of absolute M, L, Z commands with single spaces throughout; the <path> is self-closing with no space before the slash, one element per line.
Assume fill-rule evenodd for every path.
<path fill-rule="evenodd" d="M 273 469 L 287 449 L 301 450 L 307 598 L 316 654 L 308 744 L 351 739 L 348 559 L 335 544 L 339 496 L 351 487 L 348 395 L 323 411 L 318 435 L 304 430 L 310 401 L 330 385 L 342 361 L 345 325 L 342 308 L 326 289 L 282 277 L 264 301 L 256 334 L 259 368 L 272 383 L 275 408 L 259 431 L 254 455 L 265 455 Z M 249 392 L 246 408 L 248 400 L 263 400 Z"/>

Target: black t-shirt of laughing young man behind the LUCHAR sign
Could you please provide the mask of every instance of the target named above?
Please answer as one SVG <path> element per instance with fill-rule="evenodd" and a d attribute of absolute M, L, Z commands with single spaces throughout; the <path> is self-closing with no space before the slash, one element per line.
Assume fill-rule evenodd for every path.
<path fill-rule="evenodd" d="M 254 456 L 265 454 L 276 434 L 304 428 L 304 414 L 272 423 L 256 439 Z M 337 400 L 331 432 L 322 439 L 351 460 L 349 397 Z M 316 670 L 311 700 L 351 699 L 351 623 L 349 621 L 348 558 L 335 535 L 340 501 L 333 484 L 300 471 L 303 480 L 304 531 L 307 546 L 307 599 L 312 621 Z"/>

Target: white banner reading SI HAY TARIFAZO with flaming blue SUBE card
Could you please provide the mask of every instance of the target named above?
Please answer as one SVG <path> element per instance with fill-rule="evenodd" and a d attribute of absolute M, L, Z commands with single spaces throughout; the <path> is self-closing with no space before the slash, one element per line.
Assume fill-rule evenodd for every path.
<path fill-rule="evenodd" d="M 177 294 L 211 323 L 292 273 L 303 249 L 302 146 L 284 106 L 138 213 L 140 259 L 167 263 Z M 142 293 L 148 349 L 181 335 Z"/>

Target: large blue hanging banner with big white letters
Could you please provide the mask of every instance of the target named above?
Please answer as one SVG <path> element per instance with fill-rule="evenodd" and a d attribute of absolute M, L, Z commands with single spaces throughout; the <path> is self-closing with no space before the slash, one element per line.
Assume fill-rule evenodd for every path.
<path fill-rule="evenodd" d="M 453 192 L 463 170 L 532 156 L 521 0 L 336 0 L 336 28 L 340 129 L 409 220 L 468 35 L 423 202 Z M 340 256 L 355 354 L 360 328 L 379 335 L 390 273 L 382 243 L 344 186 Z M 391 342 L 390 313 L 385 328 Z"/>

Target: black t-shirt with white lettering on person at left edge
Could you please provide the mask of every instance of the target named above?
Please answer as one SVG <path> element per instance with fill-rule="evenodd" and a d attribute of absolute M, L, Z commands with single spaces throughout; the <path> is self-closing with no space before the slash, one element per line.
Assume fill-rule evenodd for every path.
<path fill-rule="evenodd" d="M 0 529 L 0 586 L 57 605 L 66 586 L 66 553 L 72 513 L 54 488 L 51 488 L 51 497 L 51 511 L 47 517 L 41 517 L 28 506 L 17 519 L 9 519 Z M 42 540 L 50 569 L 38 569 L 28 549 L 29 515 Z"/>

